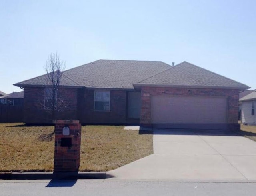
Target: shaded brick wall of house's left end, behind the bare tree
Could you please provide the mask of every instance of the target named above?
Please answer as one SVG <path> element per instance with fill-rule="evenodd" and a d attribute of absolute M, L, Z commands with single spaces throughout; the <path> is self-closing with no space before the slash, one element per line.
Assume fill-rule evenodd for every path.
<path fill-rule="evenodd" d="M 76 88 L 60 88 L 58 97 L 64 102 L 66 108 L 57 112 L 56 119 L 77 119 L 77 91 Z M 51 123 L 52 116 L 44 109 L 44 88 L 24 88 L 24 122 L 25 123 Z"/>

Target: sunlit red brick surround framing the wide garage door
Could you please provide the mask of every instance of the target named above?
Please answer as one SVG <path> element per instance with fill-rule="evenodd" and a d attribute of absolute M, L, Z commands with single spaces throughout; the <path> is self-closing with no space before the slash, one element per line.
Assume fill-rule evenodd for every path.
<path fill-rule="evenodd" d="M 190 90 L 190 91 L 189 91 Z M 238 123 L 238 99 L 239 90 L 211 89 L 211 88 L 168 88 L 168 87 L 142 87 L 142 124 L 150 124 L 151 120 L 151 96 L 219 96 L 228 98 L 228 123 Z"/>

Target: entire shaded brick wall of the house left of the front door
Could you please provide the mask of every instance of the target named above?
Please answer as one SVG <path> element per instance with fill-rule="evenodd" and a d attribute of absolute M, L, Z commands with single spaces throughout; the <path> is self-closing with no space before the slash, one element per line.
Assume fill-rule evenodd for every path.
<path fill-rule="evenodd" d="M 24 122 L 51 123 L 52 118 L 44 104 L 44 88 L 26 87 L 24 89 Z M 127 92 L 110 91 L 110 111 L 94 111 L 94 90 L 84 88 L 61 88 L 61 96 L 66 104 L 62 112 L 56 114 L 60 120 L 80 120 L 86 124 L 122 124 L 126 123 Z"/>

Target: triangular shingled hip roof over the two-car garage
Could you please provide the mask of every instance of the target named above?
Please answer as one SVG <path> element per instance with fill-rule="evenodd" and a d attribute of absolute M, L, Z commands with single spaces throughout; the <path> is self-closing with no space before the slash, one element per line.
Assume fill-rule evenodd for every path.
<path fill-rule="evenodd" d="M 248 89 L 250 87 L 236 82 L 186 61 L 172 66 L 168 70 L 142 80 L 134 86 L 172 86 L 190 88 L 232 88 Z"/>

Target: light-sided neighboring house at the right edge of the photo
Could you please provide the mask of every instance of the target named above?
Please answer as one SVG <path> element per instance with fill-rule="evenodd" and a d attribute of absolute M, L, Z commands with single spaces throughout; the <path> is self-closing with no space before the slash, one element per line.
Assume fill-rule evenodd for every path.
<path fill-rule="evenodd" d="M 256 90 L 239 100 L 242 102 L 241 123 L 256 124 Z"/>

